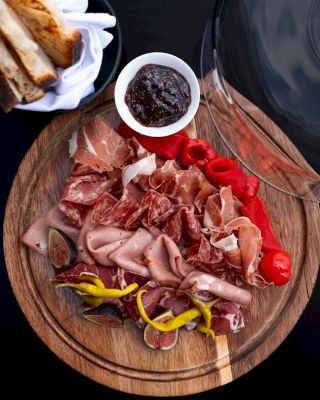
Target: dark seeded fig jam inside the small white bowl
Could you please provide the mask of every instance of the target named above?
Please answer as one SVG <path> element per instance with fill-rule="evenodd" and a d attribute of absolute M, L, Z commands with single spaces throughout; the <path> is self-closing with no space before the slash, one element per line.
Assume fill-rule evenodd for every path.
<path fill-rule="evenodd" d="M 191 103 L 190 86 L 173 68 L 147 64 L 129 83 L 125 102 L 144 126 L 161 127 L 178 121 Z"/>

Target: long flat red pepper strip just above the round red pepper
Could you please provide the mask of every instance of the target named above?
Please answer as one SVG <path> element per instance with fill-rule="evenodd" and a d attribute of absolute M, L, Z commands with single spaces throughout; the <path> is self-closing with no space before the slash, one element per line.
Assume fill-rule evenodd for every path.
<path fill-rule="evenodd" d="M 261 231 L 262 250 L 268 253 L 271 250 L 282 250 L 278 242 L 271 222 L 268 217 L 266 206 L 260 197 L 245 207 L 240 207 L 240 213 L 244 217 L 248 217 Z"/>

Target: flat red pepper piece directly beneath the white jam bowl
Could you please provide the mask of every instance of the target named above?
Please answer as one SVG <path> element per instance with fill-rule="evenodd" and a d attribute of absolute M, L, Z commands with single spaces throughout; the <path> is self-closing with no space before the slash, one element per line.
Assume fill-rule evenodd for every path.
<path fill-rule="evenodd" d="M 146 150 L 156 153 L 166 160 L 176 160 L 179 157 L 182 144 L 188 136 L 185 130 L 165 137 L 144 136 L 131 129 L 124 122 L 119 125 L 118 132 L 125 139 L 135 137 Z"/>

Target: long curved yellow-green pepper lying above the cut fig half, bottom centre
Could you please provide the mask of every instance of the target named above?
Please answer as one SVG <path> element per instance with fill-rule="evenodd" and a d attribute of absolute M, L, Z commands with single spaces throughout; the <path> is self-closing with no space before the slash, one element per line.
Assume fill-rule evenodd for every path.
<path fill-rule="evenodd" d="M 141 318 L 144 320 L 144 322 L 151 325 L 153 328 L 157 329 L 158 331 L 161 331 L 161 332 L 173 331 L 201 315 L 201 312 L 198 310 L 198 308 L 193 307 L 193 308 L 190 308 L 189 310 L 177 315 L 175 318 L 173 318 L 167 322 L 161 323 L 161 322 L 152 321 L 146 314 L 143 304 L 142 304 L 141 296 L 143 293 L 146 293 L 146 292 L 147 292 L 147 290 L 140 290 L 137 293 L 138 310 L 139 310 Z"/>

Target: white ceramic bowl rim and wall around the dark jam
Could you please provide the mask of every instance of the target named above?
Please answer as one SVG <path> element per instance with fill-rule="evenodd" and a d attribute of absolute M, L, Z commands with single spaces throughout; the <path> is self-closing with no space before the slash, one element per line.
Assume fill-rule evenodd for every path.
<path fill-rule="evenodd" d="M 171 67 L 180 72 L 190 85 L 191 104 L 188 111 L 177 122 L 164 127 L 147 127 L 140 124 L 131 114 L 125 103 L 125 94 L 130 81 L 135 77 L 138 70 L 146 64 L 158 64 Z M 200 101 L 200 88 L 196 75 L 180 58 L 168 53 L 147 53 L 130 61 L 121 71 L 114 90 L 114 99 L 120 117 L 135 131 L 146 136 L 168 136 L 185 128 L 195 116 Z"/>

